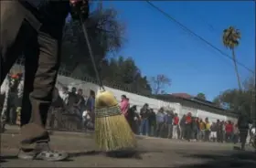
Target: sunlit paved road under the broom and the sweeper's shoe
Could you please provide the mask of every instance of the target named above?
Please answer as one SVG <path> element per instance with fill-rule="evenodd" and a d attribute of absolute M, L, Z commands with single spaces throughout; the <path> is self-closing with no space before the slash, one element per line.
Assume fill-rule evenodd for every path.
<path fill-rule="evenodd" d="M 69 161 L 23 161 L 16 158 L 18 139 L 17 131 L 1 134 L 1 167 L 256 167 L 255 153 L 234 151 L 230 144 L 138 138 L 135 156 L 111 158 L 97 152 L 91 135 L 68 132 L 54 133 L 51 147 L 68 151 Z"/>

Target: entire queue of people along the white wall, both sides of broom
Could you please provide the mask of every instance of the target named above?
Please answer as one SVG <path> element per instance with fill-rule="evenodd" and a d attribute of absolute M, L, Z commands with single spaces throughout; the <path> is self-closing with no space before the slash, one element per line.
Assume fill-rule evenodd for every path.
<path fill-rule="evenodd" d="M 5 92 L 5 105 L 2 116 L 10 124 L 19 124 L 20 99 L 22 99 L 21 75 L 10 76 L 9 91 Z M 9 96 L 8 96 L 9 95 Z M 57 113 L 69 113 L 78 117 L 77 129 L 93 130 L 94 128 L 95 92 L 89 95 L 75 87 L 55 89 L 51 108 L 48 112 L 48 127 L 52 128 Z M 232 121 L 210 122 L 208 118 L 201 119 L 192 116 L 190 112 L 179 116 L 175 110 L 164 107 L 157 112 L 147 103 L 138 111 L 137 106 L 130 105 L 129 99 L 123 95 L 120 104 L 123 115 L 129 122 L 135 134 L 162 137 L 191 142 L 234 142 L 240 141 L 240 123 Z M 16 115 L 14 114 L 16 112 Z M 243 121 L 246 122 L 246 121 Z M 246 125 L 246 124 L 245 124 Z"/>

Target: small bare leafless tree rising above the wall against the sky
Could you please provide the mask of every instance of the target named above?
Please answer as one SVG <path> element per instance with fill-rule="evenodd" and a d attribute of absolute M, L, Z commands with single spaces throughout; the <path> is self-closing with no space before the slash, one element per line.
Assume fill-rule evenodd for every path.
<path fill-rule="evenodd" d="M 165 87 L 171 86 L 171 79 L 166 77 L 164 74 L 159 74 L 156 77 L 151 78 L 151 88 L 153 94 L 165 93 Z"/>

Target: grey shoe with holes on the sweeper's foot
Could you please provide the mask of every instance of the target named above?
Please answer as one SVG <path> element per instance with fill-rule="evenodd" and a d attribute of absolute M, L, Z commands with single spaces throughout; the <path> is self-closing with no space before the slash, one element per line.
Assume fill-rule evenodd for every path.
<path fill-rule="evenodd" d="M 31 152 L 24 152 L 20 150 L 17 157 L 23 160 L 43 160 L 48 162 L 64 161 L 69 158 L 67 152 L 55 152 L 51 150 L 33 150 Z"/>

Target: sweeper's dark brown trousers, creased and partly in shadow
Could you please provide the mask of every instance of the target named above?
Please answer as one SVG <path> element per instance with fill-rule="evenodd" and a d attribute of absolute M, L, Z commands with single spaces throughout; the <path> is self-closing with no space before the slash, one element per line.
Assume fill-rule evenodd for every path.
<path fill-rule="evenodd" d="M 45 124 L 59 69 L 62 26 L 46 26 L 16 0 L 1 1 L 0 22 L 0 84 L 16 58 L 22 53 L 26 57 L 21 148 L 34 149 L 35 143 L 49 141 Z"/>

